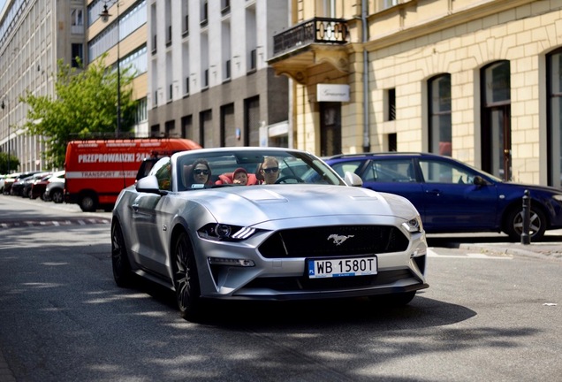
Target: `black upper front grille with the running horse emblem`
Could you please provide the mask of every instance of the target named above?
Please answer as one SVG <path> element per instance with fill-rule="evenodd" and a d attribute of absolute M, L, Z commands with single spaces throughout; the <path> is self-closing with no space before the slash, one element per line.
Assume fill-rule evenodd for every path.
<path fill-rule="evenodd" d="M 391 225 L 334 225 L 279 231 L 260 246 L 266 258 L 330 257 L 405 251 L 408 238 Z"/>

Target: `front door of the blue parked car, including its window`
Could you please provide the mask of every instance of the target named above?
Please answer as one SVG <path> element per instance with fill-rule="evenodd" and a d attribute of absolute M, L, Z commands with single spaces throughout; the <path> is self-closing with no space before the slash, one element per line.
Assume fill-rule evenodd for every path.
<path fill-rule="evenodd" d="M 489 230 L 497 224 L 497 190 L 475 185 L 473 169 L 442 158 L 420 158 L 423 225 L 428 232 Z"/>

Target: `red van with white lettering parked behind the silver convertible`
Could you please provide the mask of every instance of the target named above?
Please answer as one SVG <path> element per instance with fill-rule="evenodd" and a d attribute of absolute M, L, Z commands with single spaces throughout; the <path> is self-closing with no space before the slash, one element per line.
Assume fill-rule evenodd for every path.
<path fill-rule="evenodd" d="M 65 157 L 65 202 L 78 203 L 83 211 L 109 210 L 119 192 L 134 184 L 145 158 L 190 149 L 201 146 L 180 138 L 70 141 Z"/>

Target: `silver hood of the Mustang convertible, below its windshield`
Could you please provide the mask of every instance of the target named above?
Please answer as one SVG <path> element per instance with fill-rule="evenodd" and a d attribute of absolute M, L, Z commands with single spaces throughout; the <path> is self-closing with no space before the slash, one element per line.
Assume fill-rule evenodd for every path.
<path fill-rule="evenodd" d="M 193 192 L 193 191 L 190 191 Z M 391 199 L 392 202 L 388 202 Z M 412 218 L 414 207 L 398 195 L 368 188 L 325 185 L 224 187 L 201 191 L 203 204 L 218 221 L 251 225 L 285 218 L 369 215 Z M 233 218 L 235 217 L 235 218 Z"/>

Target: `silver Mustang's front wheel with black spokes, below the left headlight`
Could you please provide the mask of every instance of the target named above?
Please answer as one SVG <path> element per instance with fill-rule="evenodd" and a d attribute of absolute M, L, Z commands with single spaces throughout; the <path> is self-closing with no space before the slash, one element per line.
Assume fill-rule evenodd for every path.
<path fill-rule="evenodd" d="M 199 321 L 201 318 L 201 287 L 194 250 L 186 232 L 179 233 L 171 256 L 179 314 L 187 321 Z"/>

